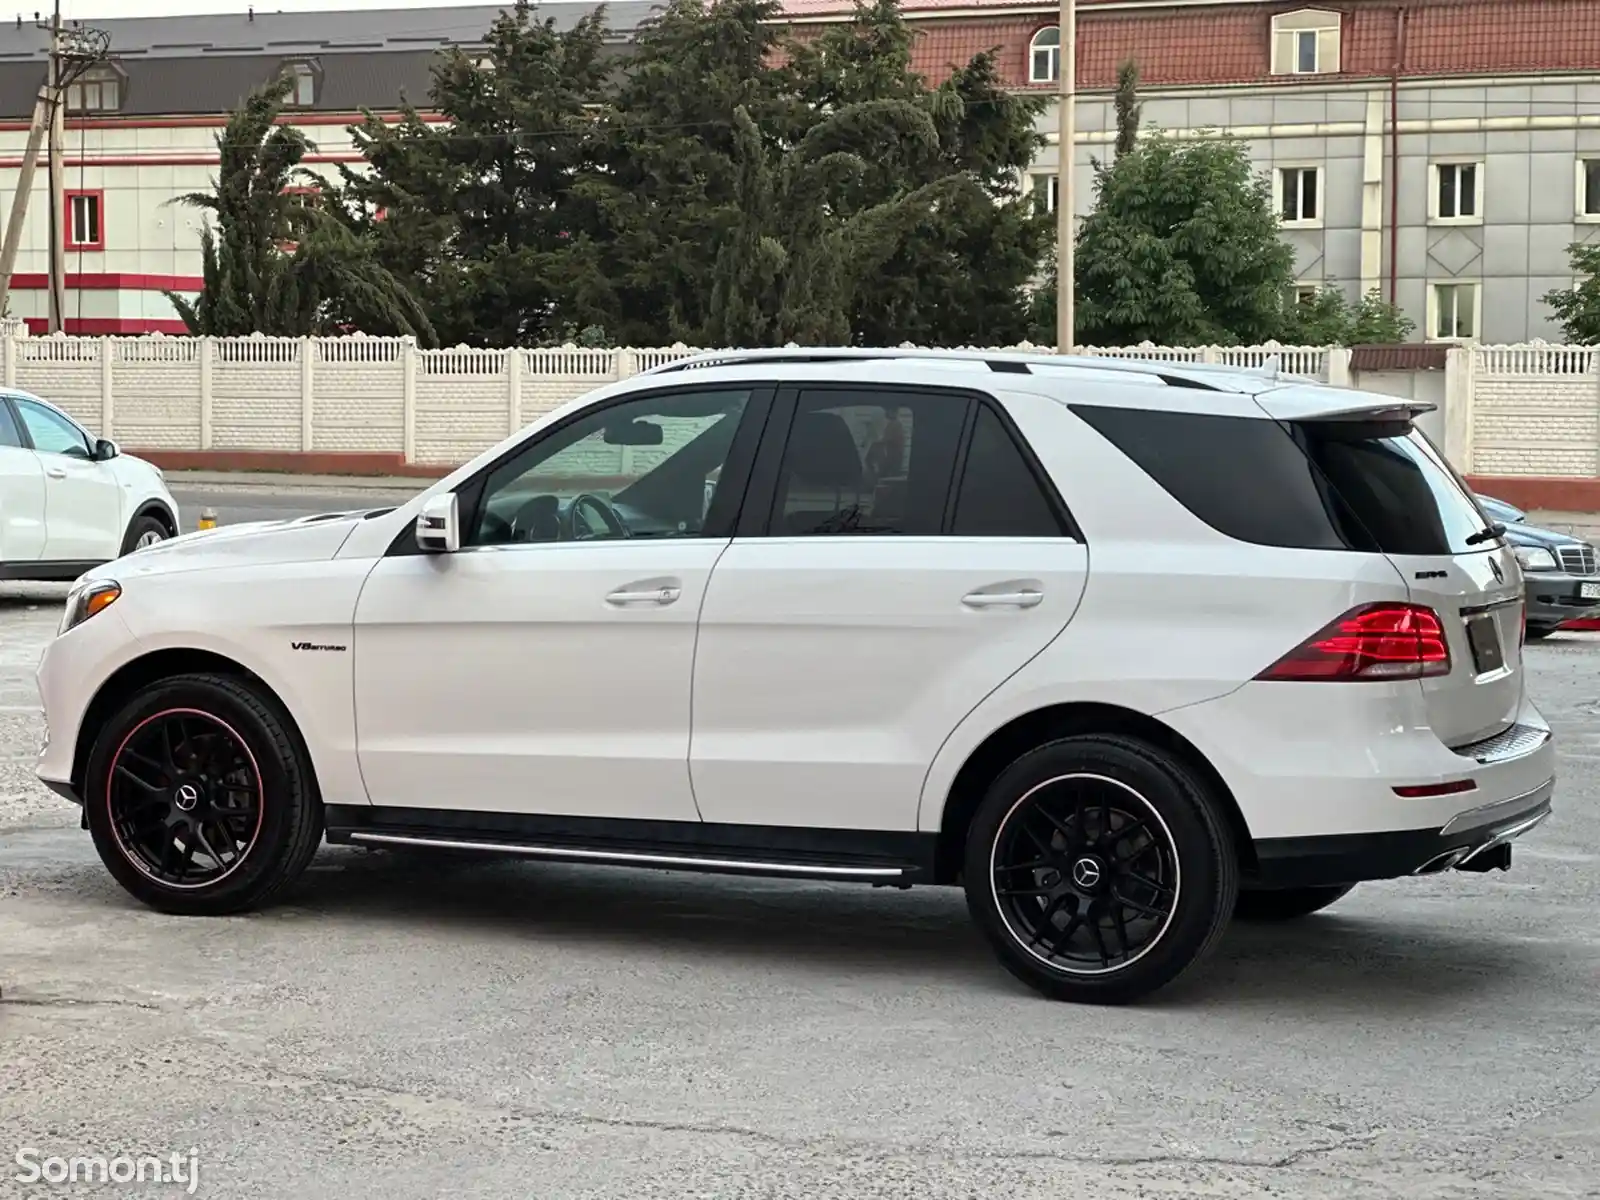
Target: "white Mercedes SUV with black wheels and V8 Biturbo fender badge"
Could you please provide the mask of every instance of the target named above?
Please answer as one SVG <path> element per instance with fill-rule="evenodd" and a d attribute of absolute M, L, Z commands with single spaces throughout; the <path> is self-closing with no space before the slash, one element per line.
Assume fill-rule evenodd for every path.
<path fill-rule="evenodd" d="M 1510 864 L 1517 558 L 1414 405 L 1168 363 L 706 355 L 408 504 L 90 571 L 38 773 L 178 914 L 318 843 L 960 885 L 1040 992 Z"/>

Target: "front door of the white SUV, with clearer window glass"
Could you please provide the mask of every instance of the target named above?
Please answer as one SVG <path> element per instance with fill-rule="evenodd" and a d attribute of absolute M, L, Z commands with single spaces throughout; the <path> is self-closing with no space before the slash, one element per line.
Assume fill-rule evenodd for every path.
<path fill-rule="evenodd" d="M 749 387 L 581 411 L 459 490 L 459 552 L 386 557 L 354 634 L 371 802 L 698 821 L 694 629 L 765 413 Z"/>

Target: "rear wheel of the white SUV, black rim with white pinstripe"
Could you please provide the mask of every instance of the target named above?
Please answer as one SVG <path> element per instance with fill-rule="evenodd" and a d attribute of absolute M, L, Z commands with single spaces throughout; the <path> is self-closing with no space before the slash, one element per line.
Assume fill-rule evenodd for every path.
<path fill-rule="evenodd" d="M 966 904 L 1002 965 L 1053 1000 L 1139 1000 L 1203 962 L 1238 858 L 1206 784 L 1136 738 L 1082 734 L 1013 762 L 973 816 Z"/>

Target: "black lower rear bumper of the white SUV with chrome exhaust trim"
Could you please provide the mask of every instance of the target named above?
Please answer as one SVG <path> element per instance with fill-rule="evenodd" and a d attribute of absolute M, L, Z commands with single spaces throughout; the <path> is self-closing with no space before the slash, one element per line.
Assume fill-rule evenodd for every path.
<path fill-rule="evenodd" d="M 1523 795 L 1456 813 L 1440 829 L 1280 837 L 1256 842 L 1259 870 L 1246 883 L 1304 888 L 1510 864 L 1510 843 L 1550 814 L 1555 779 Z"/>

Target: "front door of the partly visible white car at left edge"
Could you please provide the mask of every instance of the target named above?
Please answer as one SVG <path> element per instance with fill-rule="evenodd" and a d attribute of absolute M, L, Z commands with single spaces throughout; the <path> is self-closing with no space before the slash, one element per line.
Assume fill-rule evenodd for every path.
<path fill-rule="evenodd" d="M 26 397 L 14 397 L 45 472 L 45 560 L 102 563 L 122 554 L 122 485 L 94 461 L 90 437 L 66 416 Z"/>

